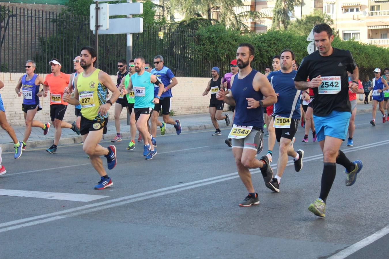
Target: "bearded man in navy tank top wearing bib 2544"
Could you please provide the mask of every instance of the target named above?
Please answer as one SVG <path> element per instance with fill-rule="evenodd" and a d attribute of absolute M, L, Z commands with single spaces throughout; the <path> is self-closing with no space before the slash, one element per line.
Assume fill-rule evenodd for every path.
<path fill-rule="evenodd" d="M 249 43 L 240 44 L 237 50 L 239 73 L 231 77 L 231 94 L 226 96 L 224 89 L 216 94 L 218 100 L 236 106 L 229 137 L 239 177 L 249 192 L 239 204 L 243 207 L 259 204 L 249 169 L 259 168 L 265 183 L 273 179 L 268 157 L 265 155 L 257 160 L 255 156 L 258 150 L 263 149 L 263 107 L 276 103 L 277 96 L 267 78 L 251 68 L 253 59 L 254 47 Z M 263 96 L 266 98 L 263 99 Z"/>

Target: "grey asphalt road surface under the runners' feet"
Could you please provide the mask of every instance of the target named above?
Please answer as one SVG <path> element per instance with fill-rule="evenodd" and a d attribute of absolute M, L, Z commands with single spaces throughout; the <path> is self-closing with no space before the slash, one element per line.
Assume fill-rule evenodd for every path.
<path fill-rule="evenodd" d="M 228 130 L 158 137 L 149 161 L 142 145 L 128 151 L 127 141 L 117 143 L 118 163 L 108 172 L 114 185 L 104 190 L 93 189 L 99 177 L 81 145 L 55 155 L 28 150 L 18 160 L 3 153 L 0 189 L 19 196 L 0 195 L 0 258 L 387 258 L 389 235 L 360 242 L 389 224 L 389 123 L 372 127 L 370 119 L 357 115 L 354 146 L 342 145 L 364 167 L 347 187 L 337 166 L 325 219 L 307 209 L 320 192 L 322 156 L 311 136 L 301 142 L 301 127 L 294 147 L 305 151 L 303 169 L 296 173 L 290 159 L 280 193 L 252 170 L 261 203 L 251 207 L 238 206 L 247 192 L 224 144 Z M 264 145 L 265 153 L 267 138 Z M 276 144 L 273 167 L 277 157 Z M 69 198 L 83 195 L 99 196 Z"/>

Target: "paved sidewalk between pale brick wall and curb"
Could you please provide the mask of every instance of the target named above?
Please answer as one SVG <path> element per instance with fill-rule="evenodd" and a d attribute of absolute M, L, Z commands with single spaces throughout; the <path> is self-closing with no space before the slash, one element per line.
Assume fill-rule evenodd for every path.
<path fill-rule="evenodd" d="M 358 104 L 357 106 L 357 114 L 358 113 L 366 113 L 371 112 L 371 104 Z M 232 112 L 223 112 L 228 113 L 230 115 L 231 124 L 232 124 Z M 172 117 L 174 120 L 180 120 L 182 132 L 190 132 L 195 130 L 212 130 L 214 126 L 212 125 L 211 119 L 209 117 L 209 113 L 197 113 L 190 115 L 178 115 Z M 159 117 L 159 120 L 162 120 L 162 117 Z M 43 122 L 46 123 L 47 121 Z M 126 120 L 120 121 L 120 133 L 123 136 L 123 141 L 130 141 L 130 125 L 126 125 Z M 221 129 L 226 128 L 226 123 L 224 120 L 219 121 L 219 127 Z M 228 126 L 228 127 L 231 127 Z M 23 140 L 23 134 L 25 127 L 24 126 L 15 126 L 13 127 L 18 137 L 19 141 Z M 32 132 L 30 138 L 28 139 L 27 149 L 30 148 L 49 148 L 53 144 L 54 139 L 54 127 L 52 126 L 47 135 L 43 135 L 43 131 L 40 128 L 32 128 Z M 138 134 L 138 133 L 137 133 Z M 176 134 L 176 131 L 173 125 L 166 125 L 166 134 Z M 159 127 L 157 127 L 157 136 L 160 135 Z M 111 140 L 116 136 L 116 129 L 114 125 L 114 121 L 110 120 L 107 126 L 107 134 L 103 135 L 103 139 Z M 136 136 L 136 138 L 138 135 Z M 60 139 L 61 144 L 74 144 L 79 143 L 81 141 L 81 136 L 78 136 L 71 129 L 62 129 L 62 135 Z M 12 151 L 13 143 L 11 137 L 7 134 L 7 132 L 3 129 L 0 129 L 0 147 L 3 151 Z"/>

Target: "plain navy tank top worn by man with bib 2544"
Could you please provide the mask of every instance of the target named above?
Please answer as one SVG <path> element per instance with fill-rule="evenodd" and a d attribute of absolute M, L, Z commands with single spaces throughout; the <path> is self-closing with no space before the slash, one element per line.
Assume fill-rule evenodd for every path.
<path fill-rule="evenodd" d="M 239 79 L 238 75 L 236 75 L 233 80 L 231 92 L 236 104 L 234 124 L 254 126 L 263 130 L 263 108 L 247 109 L 246 98 L 254 98 L 257 101 L 263 99 L 262 93 L 260 91 L 257 92 L 252 87 L 252 81 L 256 73 L 258 71 L 253 69 L 245 78 Z"/>

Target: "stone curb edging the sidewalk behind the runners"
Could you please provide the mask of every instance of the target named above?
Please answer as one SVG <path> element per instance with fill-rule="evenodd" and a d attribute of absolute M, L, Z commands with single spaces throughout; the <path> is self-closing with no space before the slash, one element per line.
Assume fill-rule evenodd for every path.
<path fill-rule="evenodd" d="M 224 123 L 223 123 L 224 124 Z M 226 129 L 230 128 L 230 126 L 220 126 L 221 129 Z M 193 132 L 193 131 L 198 131 L 198 130 L 208 130 L 208 129 L 215 129 L 214 125 L 212 123 L 210 124 L 200 124 L 200 125 L 195 125 L 195 126 L 187 126 L 187 127 L 182 127 L 182 132 Z M 175 135 L 176 130 L 174 127 L 169 127 L 166 128 L 166 133 L 167 135 Z M 130 141 L 131 133 L 130 132 L 122 132 L 121 133 L 123 137 L 123 141 Z M 116 136 L 116 133 L 108 133 L 104 134 L 102 139 L 105 141 L 109 141 L 113 139 Z M 159 127 L 157 129 L 157 136 L 161 136 Z M 138 132 L 135 136 L 136 139 L 138 139 Z M 81 136 L 74 136 L 74 137 L 61 137 L 60 142 L 58 143 L 58 146 L 60 145 L 67 145 L 67 144 L 76 144 L 81 142 Z M 33 140 L 33 141 L 28 141 L 26 150 L 32 149 L 32 148 L 49 148 L 51 145 L 53 145 L 54 140 L 53 139 L 42 139 L 42 140 Z M 0 144 L 0 148 L 2 151 L 14 151 L 14 143 L 3 143 Z"/>

